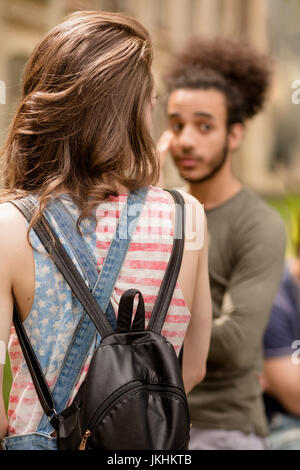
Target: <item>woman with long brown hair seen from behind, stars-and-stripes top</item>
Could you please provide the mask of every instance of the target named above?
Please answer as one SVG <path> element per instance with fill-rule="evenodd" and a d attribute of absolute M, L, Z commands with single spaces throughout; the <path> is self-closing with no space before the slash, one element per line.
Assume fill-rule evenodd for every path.
<path fill-rule="evenodd" d="M 129 192 L 147 188 L 110 300 L 117 312 L 121 294 L 136 287 L 144 294 L 148 319 L 151 315 L 170 256 L 174 219 L 171 195 L 153 186 L 158 160 L 150 135 L 155 101 L 151 62 L 149 35 L 137 21 L 122 14 L 85 11 L 51 30 L 27 63 L 21 101 L 3 150 L 0 340 L 8 345 L 13 373 L 8 418 L 2 399 L 0 403 L 0 437 L 9 436 L 5 448 L 41 448 L 41 435 L 46 438 L 43 448 L 55 448 L 49 428 L 41 428 L 43 411 L 11 330 L 13 299 L 51 389 L 82 311 L 32 230 L 51 200 L 59 199 L 77 221 L 101 274 Z M 7 202 L 28 195 L 39 203 L 29 227 Z M 188 393 L 205 375 L 211 301 L 204 214 L 193 197 L 184 198 L 189 209 L 186 225 L 195 240 L 187 233 L 162 333 L 177 353 L 185 340 L 183 379 Z M 67 247 L 63 230 L 53 223 Z M 202 233 L 204 243 L 197 244 Z M 70 401 L 93 350 L 94 346 Z M 2 375 L 0 365 L 1 384 Z"/>

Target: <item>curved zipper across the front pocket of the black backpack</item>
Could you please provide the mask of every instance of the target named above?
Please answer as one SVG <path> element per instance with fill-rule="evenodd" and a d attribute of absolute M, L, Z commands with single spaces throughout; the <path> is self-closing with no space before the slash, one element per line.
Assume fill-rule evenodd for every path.
<path fill-rule="evenodd" d="M 128 392 L 131 392 L 132 390 L 138 391 L 140 389 L 146 389 L 146 390 L 153 390 L 153 391 L 169 391 L 172 395 L 177 395 L 184 401 L 186 400 L 186 395 L 185 393 L 180 389 L 180 388 L 175 388 L 174 387 L 168 387 L 168 386 L 163 386 L 163 385 L 145 385 L 141 384 L 140 382 L 136 381 L 131 384 L 128 384 L 126 387 L 124 386 L 123 390 L 118 392 L 116 396 L 111 397 L 109 400 L 106 401 L 105 404 L 100 406 L 100 408 L 96 411 L 96 413 L 92 416 L 90 419 L 88 426 L 86 428 L 86 431 L 82 437 L 81 443 L 79 445 L 78 450 L 85 450 L 86 447 L 86 442 L 88 438 L 92 434 L 93 427 L 97 420 L 101 417 L 101 415 L 105 415 L 107 409 L 113 405 L 115 402 L 118 402 L 122 397 L 126 396 Z M 186 403 L 185 403 L 186 405 Z"/>

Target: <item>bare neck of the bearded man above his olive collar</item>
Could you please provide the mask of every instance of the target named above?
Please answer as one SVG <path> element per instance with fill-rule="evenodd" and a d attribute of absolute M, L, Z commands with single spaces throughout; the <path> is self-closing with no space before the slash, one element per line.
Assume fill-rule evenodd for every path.
<path fill-rule="evenodd" d="M 242 184 L 231 171 L 221 171 L 202 183 L 189 183 L 188 192 L 209 210 L 221 206 L 241 189 Z"/>

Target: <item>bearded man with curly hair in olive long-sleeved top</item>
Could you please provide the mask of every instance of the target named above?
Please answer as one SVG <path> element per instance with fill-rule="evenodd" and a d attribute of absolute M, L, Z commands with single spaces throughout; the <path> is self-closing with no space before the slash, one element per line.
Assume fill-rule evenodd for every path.
<path fill-rule="evenodd" d="M 232 171 L 247 119 L 270 81 L 266 58 L 231 40 L 193 40 L 167 70 L 168 149 L 204 204 L 213 327 L 207 375 L 189 394 L 190 449 L 264 449 L 268 427 L 259 373 L 262 338 L 278 288 L 285 229 Z"/>

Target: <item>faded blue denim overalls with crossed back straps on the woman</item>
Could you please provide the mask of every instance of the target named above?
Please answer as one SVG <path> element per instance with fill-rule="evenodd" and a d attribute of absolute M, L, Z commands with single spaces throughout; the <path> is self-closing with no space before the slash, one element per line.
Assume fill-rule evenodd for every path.
<path fill-rule="evenodd" d="M 110 303 L 110 297 L 128 251 L 131 236 L 143 209 L 147 192 L 147 188 L 142 188 L 139 191 L 129 193 L 99 275 L 93 254 L 84 242 L 83 237 L 78 233 L 72 215 L 61 200 L 53 201 L 48 206 L 47 213 L 45 212 L 50 222 L 51 218 L 55 219 L 65 248 L 68 246 L 72 250 L 81 274 L 99 306 L 106 312 L 113 327 L 116 325 L 116 316 Z M 74 331 L 63 366 L 52 390 L 57 412 L 62 411 L 67 406 L 91 347 L 93 344 L 97 347 L 100 341 L 101 337 L 98 332 L 96 333 L 94 324 L 89 316 L 83 313 Z M 51 436 L 53 432 L 54 429 L 48 417 L 43 414 L 36 432 L 4 437 L 1 440 L 1 446 L 3 450 L 57 450 L 56 437 Z"/>

